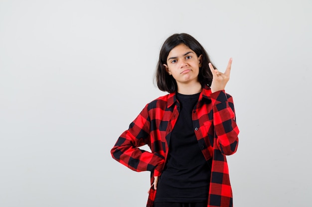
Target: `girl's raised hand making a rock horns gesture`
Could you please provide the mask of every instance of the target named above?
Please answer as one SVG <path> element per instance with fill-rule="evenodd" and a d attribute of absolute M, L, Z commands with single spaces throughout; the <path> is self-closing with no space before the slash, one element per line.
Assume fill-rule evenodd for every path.
<path fill-rule="evenodd" d="M 229 63 L 227 64 L 227 67 L 225 69 L 225 72 L 222 73 L 218 69 L 214 69 L 212 64 L 209 63 L 209 68 L 212 73 L 212 83 L 210 86 L 212 93 L 219 91 L 219 90 L 224 90 L 226 83 L 230 79 L 231 65 L 232 65 L 232 58 L 230 58 Z"/>

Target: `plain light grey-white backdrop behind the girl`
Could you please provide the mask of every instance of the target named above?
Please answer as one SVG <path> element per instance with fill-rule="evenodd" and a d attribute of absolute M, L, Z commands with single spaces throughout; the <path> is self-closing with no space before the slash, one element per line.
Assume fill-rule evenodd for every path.
<path fill-rule="evenodd" d="M 149 172 L 110 149 L 189 33 L 224 71 L 240 129 L 235 207 L 311 207 L 311 0 L 0 0 L 0 207 L 144 207 Z"/>

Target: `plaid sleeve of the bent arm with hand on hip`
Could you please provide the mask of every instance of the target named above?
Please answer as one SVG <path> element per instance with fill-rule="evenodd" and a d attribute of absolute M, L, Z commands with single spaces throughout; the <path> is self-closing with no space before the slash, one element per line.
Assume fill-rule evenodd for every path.
<path fill-rule="evenodd" d="M 118 138 L 111 149 L 112 157 L 134 171 L 154 170 L 154 176 L 160 175 L 164 157 L 139 148 L 145 144 L 151 146 L 150 132 L 151 122 L 147 105 L 130 124 L 129 129 Z"/>

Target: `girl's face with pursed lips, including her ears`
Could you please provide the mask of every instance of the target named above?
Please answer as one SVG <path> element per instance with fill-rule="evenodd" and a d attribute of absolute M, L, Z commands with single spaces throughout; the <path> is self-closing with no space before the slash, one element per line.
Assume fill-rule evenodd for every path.
<path fill-rule="evenodd" d="M 174 47 L 168 54 L 167 64 L 163 64 L 169 75 L 175 79 L 177 86 L 197 83 L 202 55 L 196 53 L 184 44 Z"/>

